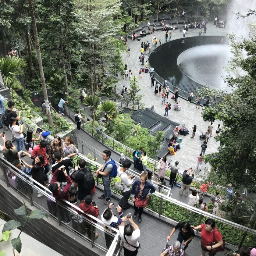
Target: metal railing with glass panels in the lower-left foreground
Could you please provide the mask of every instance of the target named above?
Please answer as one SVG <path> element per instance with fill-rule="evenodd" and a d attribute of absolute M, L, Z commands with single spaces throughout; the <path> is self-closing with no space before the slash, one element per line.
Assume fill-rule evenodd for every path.
<path fill-rule="evenodd" d="M 51 196 L 51 191 L 47 187 L 42 186 L 32 177 L 28 176 L 3 158 L 0 158 L 0 168 L 3 172 L 3 175 L 0 175 L 0 178 L 6 182 L 7 187 L 11 186 L 17 190 L 26 200 L 28 200 L 28 202 L 30 202 L 31 206 L 35 205 L 39 209 L 45 211 L 45 213 L 54 218 L 59 225 L 63 225 L 65 228 L 68 228 L 70 231 L 79 235 L 86 242 L 89 242 L 92 247 L 97 247 L 103 253 L 106 253 L 106 255 L 113 255 L 114 251 L 118 252 L 114 255 L 119 255 L 121 242 L 118 238 L 119 231 L 117 229 L 109 227 L 111 230 L 110 232 L 104 228 L 104 224 L 100 219 L 95 218 L 90 214 L 86 214 L 77 206 L 66 200 L 56 200 Z M 51 202 L 50 208 L 45 197 L 38 198 L 38 193 L 36 192 L 42 193 L 47 200 Z M 76 210 L 79 211 L 79 214 Z M 81 214 L 88 216 L 88 218 Z M 73 216 L 72 224 L 67 224 L 70 221 L 71 216 Z M 110 240 L 106 241 L 106 243 L 108 242 L 111 244 L 109 249 L 106 249 L 104 239 L 96 240 L 96 231 L 99 236 L 102 237 L 104 237 L 104 234 L 106 233 L 109 235 L 108 239 Z M 111 243 L 111 241 L 113 242 Z"/>

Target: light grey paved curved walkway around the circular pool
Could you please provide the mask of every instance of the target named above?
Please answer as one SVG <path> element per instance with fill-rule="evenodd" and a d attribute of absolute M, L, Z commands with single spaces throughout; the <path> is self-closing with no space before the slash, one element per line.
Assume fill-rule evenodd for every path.
<path fill-rule="evenodd" d="M 186 36 L 189 36 L 189 33 L 191 32 L 198 32 L 198 29 L 189 29 Z M 220 31 L 219 28 L 216 28 L 212 25 L 212 23 L 207 24 L 207 32 L 216 31 L 218 33 Z M 221 31 L 223 32 L 223 31 Z M 156 31 L 154 35 L 156 38 L 163 39 L 162 42 L 165 42 L 165 31 Z M 182 33 L 175 31 L 173 35 L 180 35 L 182 37 Z M 173 36 L 172 36 L 173 39 Z M 149 73 L 143 74 L 143 78 L 138 77 L 139 69 L 142 67 L 142 63 L 139 61 L 140 49 L 141 49 L 141 42 L 147 42 L 149 41 L 151 43 L 151 36 L 147 35 L 146 37 L 142 38 L 141 41 L 132 41 L 128 39 L 128 45 L 131 47 L 131 56 L 128 56 L 127 53 L 123 53 L 123 61 L 128 65 L 128 70 L 131 69 L 132 73 L 137 76 L 138 84 L 141 87 L 141 93 L 144 95 L 142 97 L 142 102 L 145 103 L 145 107 L 151 108 L 151 106 L 154 106 L 154 111 L 159 114 L 164 114 L 165 105 L 161 104 L 162 100 L 161 97 L 154 94 L 154 87 L 151 87 L 151 80 Z M 152 46 L 152 45 L 151 45 Z M 152 46 L 154 47 L 154 46 Z M 145 57 L 145 61 L 147 59 L 147 54 Z M 163 62 L 168 60 L 163 60 Z M 122 86 L 125 85 L 127 88 L 129 87 L 129 81 L 126 81 L 125 79 L 120 79 L 118 82 L 118 88 L 121 89 Z M 174 101 L 170 99 L 172 93 L 169 93 L 169 99 L 168 102 L 171 102 L 172 108 L 169 110 L 168 113 L 168 119 L 177 122 L 179 124 L 185 124 L 186 127 L 189 129 L 190 134 L 187 136 L 181 136 L 182 143 L 181 143 L 181 150 L 177 152 L 175 156 L 168 156 L 168 158 L 171 158 L 173 162 L 179 161 L 179 168 L 180 170 L 185 170 L 188 167 L 193 167 L 196 169 L 197 164 L 197 157 L 199 156 L 201 152 L 201 144 L 203 141 L 200 141 L 199 138 L 199 132 L 201 130 L 207 131 L 207 127 L 210 124 L 209 122 L 203 121 L 201 117 L 202 113 L 202 107 L 200 109 L 196 109 L 196 105 L 193 103 L 189 103 L 187 100 L 182 99 L 179 97 L 179 100 L 181 100 L 181 111 L 175 111 L 173 109 Z M 213 124 L 213 136 L 215 135 L 215 128 L 218 126 L 218 121 L 214 122 Z M 191 138 L 192 134 L 192 126 L 196 124 L 197 130 L 195 138 Z M 210 154 L 217 151 L 219 143 L 216 142 L 216 140 L 211 137 L 209 138 L 209 142 L 207 143 L 207 149 L 206 154 Z M 206 174 L 205 170 L 209 168 L 210 166 L 208 164 L 202 165 L 202 171 L 199 173 L 195 173 L 195 175 L 203 176 Z"/>

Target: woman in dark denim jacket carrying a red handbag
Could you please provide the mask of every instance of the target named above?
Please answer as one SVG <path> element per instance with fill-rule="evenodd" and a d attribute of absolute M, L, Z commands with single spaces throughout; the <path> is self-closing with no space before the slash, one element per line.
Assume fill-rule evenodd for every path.
<path fill-rule="evenodd" d="M 132 185 L 132 201 L 134 202 L 134 218 L 142 221 L 142 213 L 147 206 L 149 196 L 156 191 L 155 187 L 147 181 L 147 174 L 142 173 L 140 179 L 137 179 Z"/>

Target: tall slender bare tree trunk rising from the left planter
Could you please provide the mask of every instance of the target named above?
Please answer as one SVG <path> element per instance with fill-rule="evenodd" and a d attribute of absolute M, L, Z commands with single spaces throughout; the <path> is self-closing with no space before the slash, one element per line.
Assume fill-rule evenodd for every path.
<path fill-rule="evenodd" d="M 34 37 L 35 37 L 36 54 L 38 57 L 38 65 L 39 65 L 39 71 L 40 71 L 40 77 L 41 77 L 41 83 L 42 83 L 42 89 L 43 89 L 43 97 L 45 100 L 46 113 L 47 113 L 49 124 L 54 125 L 53 118 L 51 117 L 51 110 L 50 110 L 50 105 L 49 105 L 49 100 L 48 100 L 48 95 L 47 95 L 47 90 L 46 90 L 45 74 L 43 73 L 42 56 L 41 56 L 40 45 L 39 45 L 39 40 L 38 40 L 38 32 L 37 32 L 37 28 L 36 28 L 36 18 L 35 18 L 32 0 L 28 0 L 28 3 L 29 3 L 30 15 L 31 15 L 31 24 L 32 24 L 33 32 L 34 32 Z"/>

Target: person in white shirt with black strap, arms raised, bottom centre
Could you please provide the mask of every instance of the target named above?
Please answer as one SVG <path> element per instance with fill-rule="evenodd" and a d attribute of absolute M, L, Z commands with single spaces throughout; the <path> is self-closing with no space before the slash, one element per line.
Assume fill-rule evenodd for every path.
<path fill-rule="evenodd" d="M 130 223 L 125 225 L 127 220 L 129 220 Z M 141 247 L 138 241 L 141 231 L 138 225 L 133 221 L 132 216 L 125 216 L 123 218 L 119 226 L 119 235 L 121 241 L 124 242 L 124 256 L 136 256 L 138 249 Z"/>

